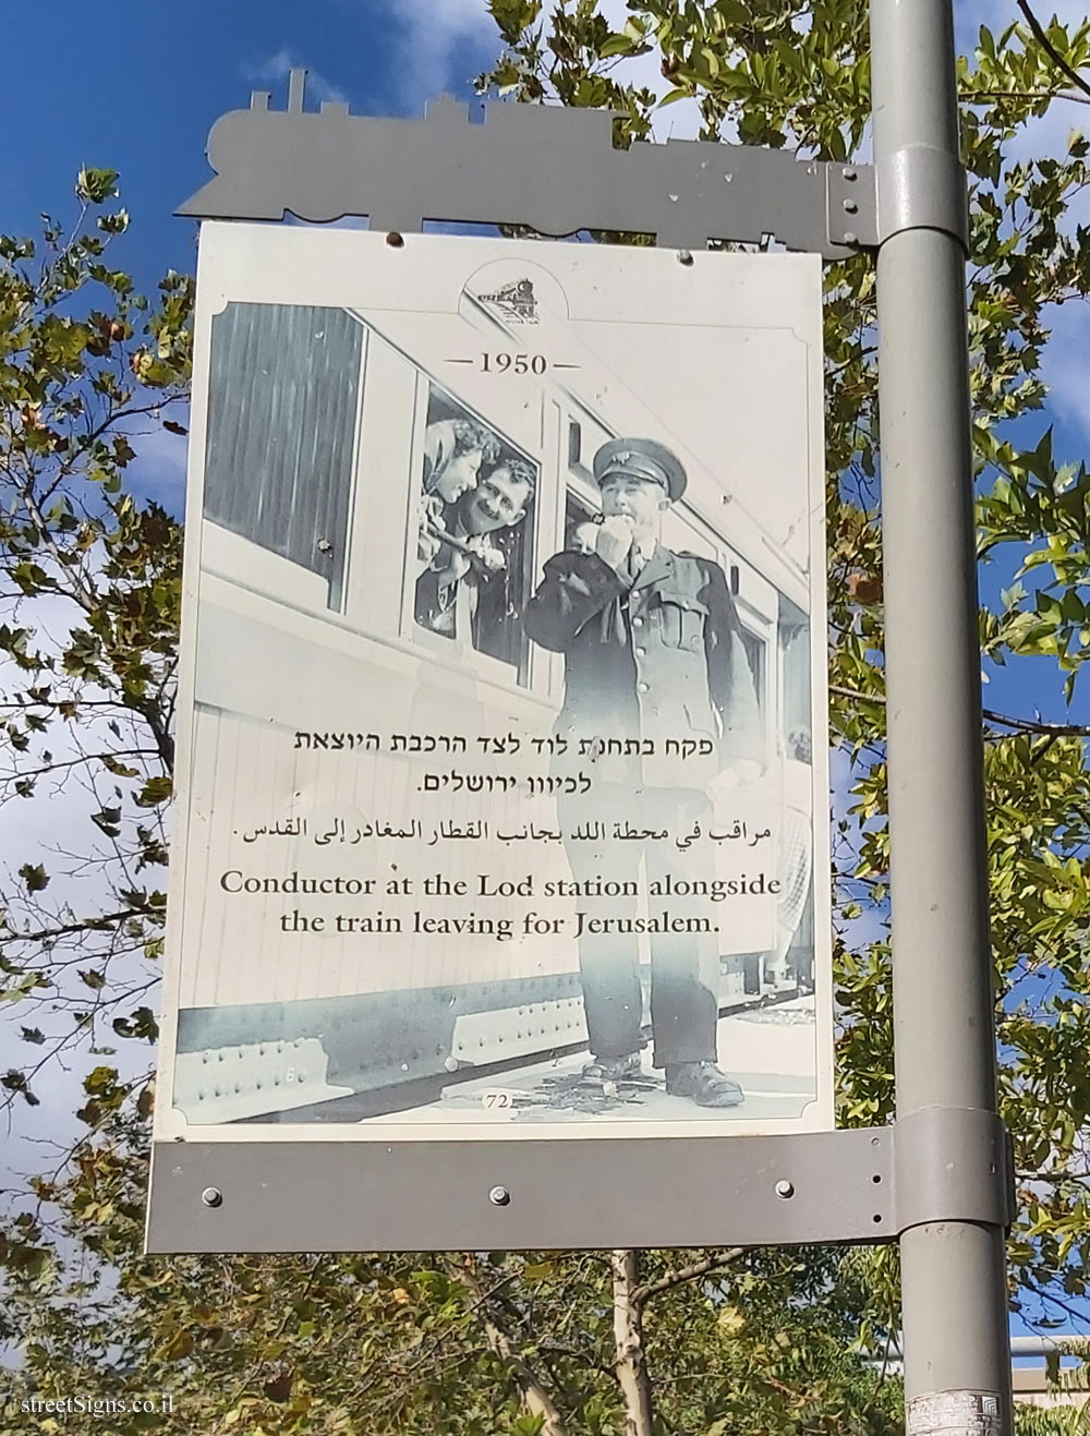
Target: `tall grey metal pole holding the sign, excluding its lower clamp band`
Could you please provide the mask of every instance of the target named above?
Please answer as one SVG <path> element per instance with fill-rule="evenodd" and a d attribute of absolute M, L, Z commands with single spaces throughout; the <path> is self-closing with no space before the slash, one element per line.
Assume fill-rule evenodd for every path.
<path fill-rule="evenodd" d="M 994 1111 L 995 1037 L 965 251 L 956 223 L 944 220 L 951 202 L 964 205 L 952 3 L 870 0 L 870 42 L 879 225 L 889 234 L 877 256 L 879 401 L 903 1119 L 933 1107 Z M 909 1436 L 1007 1436 L 1001 1228 L 915 1226 L 900 1252 Z"/>

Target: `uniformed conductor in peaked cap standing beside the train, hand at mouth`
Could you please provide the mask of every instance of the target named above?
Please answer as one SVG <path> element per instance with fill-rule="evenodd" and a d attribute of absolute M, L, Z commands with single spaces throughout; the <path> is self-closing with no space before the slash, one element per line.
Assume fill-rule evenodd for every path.
<path fill-rule="evenodd" d="M 618 438 L 602 445 L 593 467 L 603 516 L 593 549 L 584 538 L 579 551 L 550 559 L 524 613 L 528 636 L 564 655 L 556 734 L 566 744 L 557 745 L 563 754 L 553 771 L 582 765 L 593 775 L 589 793 L 559 798 L 572 877 L 638 882 L 642 859 L 648 887 L 671 873 L 714 879 L 711 844 L 697 841 L 682 854 L 674 834 L 695 824 L 707 833 L 708 787 L 763 761 L 734 600 L 714 560 L 674 553 L 661 541 L 662 516 L 686 484 L 675 454 L 652 439 Z M 623 752 L 610 742 L 616 738 L 641 742 L 628 742 Z M 666 740 L 685 738 L 698 740 L 685 744 L 689 757 L 676 755 L 676 742 L 668 757 Z M 592 740 L 582 757 L 580 740 Z M 587 754 L 599 754 L 590 765 Z M 615 824 L 635 836 L 618 839 Z M 662 829 L 669 841 L 655 837 Z M 645 1045 L 639 939 L 630 922 L 618 920 L 635 916 L 635 899 L 629 908 L 625 902 L 579 899 L 592 1053 L 584 1074 L 606 1081 L 636 1076 Z M 649 899 L 648 912 L 656 908 Z M 587 920 L 595 918 L 612 920 Z M 653 925 L 651 932 L 653 1064 L 665 1068 L 666 1091 L 701 1107 L 735 1107 L 742 1090 L 717 1066 L 715 932 Z"/>

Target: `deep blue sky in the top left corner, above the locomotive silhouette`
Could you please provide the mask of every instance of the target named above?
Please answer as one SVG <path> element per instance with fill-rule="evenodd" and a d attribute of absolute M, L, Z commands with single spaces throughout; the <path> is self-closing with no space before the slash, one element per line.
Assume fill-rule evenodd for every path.
<path fill-rule="evenodd" d="M 119 253 L 151 286 L 168 267 L 192 269 L 197 227 L 172 211 L 208 178 L 213 121 L 251 89 L 283 103 L 289 65 L 302 63 L 315 106 L 419 113 L 429 93 L 468 98 L 497 42 L 484 0 L 26 6 L 4 40 L 0 230 L 65 214 L 82 164 L 118 169 L 134 218 Z"/>

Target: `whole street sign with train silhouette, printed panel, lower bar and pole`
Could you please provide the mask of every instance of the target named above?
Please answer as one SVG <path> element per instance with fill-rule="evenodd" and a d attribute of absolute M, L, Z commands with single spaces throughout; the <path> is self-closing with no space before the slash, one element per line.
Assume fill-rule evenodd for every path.
<path fill-rule="evenodd" d="M 299 70 L 214 125 L 180 213 L 376 233 L 205 231 L 149 1252 L 896 1238 L 909 1426 L 1012 1429 L 951 0 L 870 36 L 873 167 Z M 898 1114 L 830 1130 L 817 261 L 866 250 Z"/>

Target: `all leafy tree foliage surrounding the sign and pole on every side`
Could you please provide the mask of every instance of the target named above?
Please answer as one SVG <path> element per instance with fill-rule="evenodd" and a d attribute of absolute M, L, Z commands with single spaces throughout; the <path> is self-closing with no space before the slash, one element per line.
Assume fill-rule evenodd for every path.
<path fill-rule="evenodd" d="M 705 138 L 834 159 L 863 142 L 862 0 L 630 0 L 618 32 L 595 0 L 491 0 L 490 10 L 507 49 L 481 86 L 511 102 L 609 105 L 623 144 L 643 141 L 655 111 L 682 99 L 699 106 Z M 1053 23 L 1048 39 L 1074 69 L 1090 63 L 1089 26 Z M 671 86 L 661 101 L 628 79 L 641 57 Z M 1070 701 L 1090 622 L 1090 481 L 1083 464 L 1057 461 L 1037 415 L 1056 306 L 1090 289 L 1090 231 L 1071 218 L 1087 144 L 1020 158 L 1028 122 L 1066 86 L 1021 26 L 981 30 L 959 85 L 985 593 L 991 572 L 1004 583 L 1011 573 L 981 612 L 981 648 L 989 663 L 1033 663 L 1057 702 Z M 112 175 L 86 171 L 85 214 L 112 190 Z M 188 286 L 168 279 L 159 309 L 144 309 L 102 263 L 124 211 L 101 218 L 99 233 L 80 225 L 70 240 L 50 224 L 37 270 L 29 241 L 0 241 L 0 540 L 13 606 L 0 640 L 16 685 L 7 788 L 10 801 L 42 803 L 43 784 L 75 760 L 93 788 L 96 846 L 69 859 L 70 872 L 90 853 L 115 893 L 109 910 L 80 909 L 67 889 L 57 905 L 56 857 L 22 862 L 0 961 L 13 1011 L 26 1014 L 32 1060 L 6 1078 L 23 1104 L 42 1061 L 80 1035 L 98 1044 L 103 1020 L 118 1038 L 155 1035 L 146 984 L 162 898 L 149 875 L 167 856 L 180 534 L 162 507 L 125 491 L 124 471 L 132 418 L 184 389 Z M 833 732 L 853 793 L 833 875 L 840 1113 L 870 1124 L 889 1119 L 893 1090 L 889 946 L 867 935 L 885 922 L 889 870 L 869 257 L 827 269 L 824 313 Z M 63 636 L 50 646 L 37 626 Z M 1090 1259 L 1084 737 L 1033 714 L 987 719 L 1001 1094 L 1020 1170 L 1011 1298 L 1043 1301 L 1045 1323 L 1084 1315 Z M 602 1254 L 142 1259 L 149 1096 L 125 1067 L 88 1074 L 86 1140 L 7 1223 L 0 1333 L 22 1343 L 16 1396 L 171 1391 L 174 1416 L 154 1422 L 164 1430 L 623 1429 Z M 863 1360 L 896 1325 L 893 1254 L 648 1252 L 639 1282 L 656 1436 L 899 1429 L 898 1381 Z M 142 1429 L 135 1416 L 113 1420 Z M 19 1412 L 6 1422 L 0 1433 L 27 1429 Z"/>

